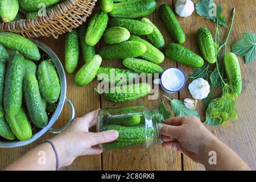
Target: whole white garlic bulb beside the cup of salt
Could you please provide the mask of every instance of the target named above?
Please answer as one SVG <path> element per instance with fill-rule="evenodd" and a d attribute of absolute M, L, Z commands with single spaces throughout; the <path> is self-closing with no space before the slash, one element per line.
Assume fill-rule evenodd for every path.
<path fill-rule="evenodd" d="M 210 93 L 210 85 L 208 81 L 204 80 L 203 78 L 193 80 L 191 84 L 188 85 L 188 89 L 192 97 L 196 100 L 202 100 Z"/>

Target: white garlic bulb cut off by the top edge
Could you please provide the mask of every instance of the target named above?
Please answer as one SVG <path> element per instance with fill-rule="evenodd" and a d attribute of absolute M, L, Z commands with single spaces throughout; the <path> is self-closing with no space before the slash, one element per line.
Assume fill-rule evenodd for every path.
<path fill-rule="evenodd" d="M 175 11 L 181 17 L 190 16 L 194 10 L 194 3 L 191 0 L 178 0 L 175 4 Z"/>

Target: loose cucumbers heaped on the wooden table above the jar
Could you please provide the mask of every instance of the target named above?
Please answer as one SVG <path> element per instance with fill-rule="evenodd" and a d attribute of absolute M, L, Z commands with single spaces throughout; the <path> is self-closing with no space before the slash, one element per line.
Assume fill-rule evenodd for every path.
<path fill-rule="evenodd" d="M 185 33 L 170 6 L 163 4 L 159 7 L 160 18 L 176 42 L 166 46 L 164 53 L 161 50 L 165 46 L 165 41 L 158 27 L 150 19 L 134 19 L 151 14 L 156 9 L 154 0 L 101 0 L 100 6 L 101 11 L 92 17 L 88 27 L 82 24 L 78 31 L 73 29 L 66 36 L 65 68 L 67 72 L 75 72 L 79 62 L 80 47 L 85 61 L 85 65 L 76 73 L 75 83 L 77 85 L 87 85 L 96 76 L 102 81 L 117 84 L 133 81 L 138 74 L 161 74 L 163 68 L 158 64 L 164 61 L 164 53 L 173 61 L 194 68 L 204 65 L 202 57 L 180 45 L 185 42 Z M 147 40 L 139 37 L 142 35 L 146 36 Z M 213 63 L 215 53 L 210 32 L 206 28 L 201 29 L 199 36 L 204 37 L 200 38 L 199 42 L 205 59 Z M 95 46 L 101 39 L 106 46 L 101 47 L 96 55 Z M 208 44 L 210 46 L 207 46 Z M 102 59 L 122 59 L 127 69 L 100 67 Z M 125 78 L 117 77 L 114 80 L 113 75 L 116 76 L 119 73 L 122 73 Z M 102 76 L 103 74 L 105 76 Z M 134 86 L 137 86 L 138 90 L 133 89 Z M 117 89 L 121 88 L 123 87 Z M 146 83 L 128 85 L 123 89 L 129 88 L 134 92 L 129 92 L 129 94 L 114 92 L 104 94 L 104 97 L 112 102 L 126 102 L 150 93 L 150 85 Z M 144 90 L 148 91 L 144 92 Z"/>

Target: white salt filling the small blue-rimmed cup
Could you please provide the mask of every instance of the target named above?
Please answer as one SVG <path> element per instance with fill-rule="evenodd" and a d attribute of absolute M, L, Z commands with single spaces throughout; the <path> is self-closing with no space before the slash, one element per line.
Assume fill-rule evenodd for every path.
<path fill-rule="evenodd" d="M 183 73 L 176 68 L 167 69 L 162 75 L 162 85 L 167 90 L 179 90 L 183 86 L 184 81 Z"/>

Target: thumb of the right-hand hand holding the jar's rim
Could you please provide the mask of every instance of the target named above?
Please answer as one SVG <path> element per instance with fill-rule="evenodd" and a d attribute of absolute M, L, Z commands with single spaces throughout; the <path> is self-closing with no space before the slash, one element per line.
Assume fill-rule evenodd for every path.
<path fill-rule="evenodd" d="M 175 139 L 179 138 L 179 126 L 166 125 L 163 123 L 158 123 L 158 131 L 160 134 L 173 137 Z"/>

